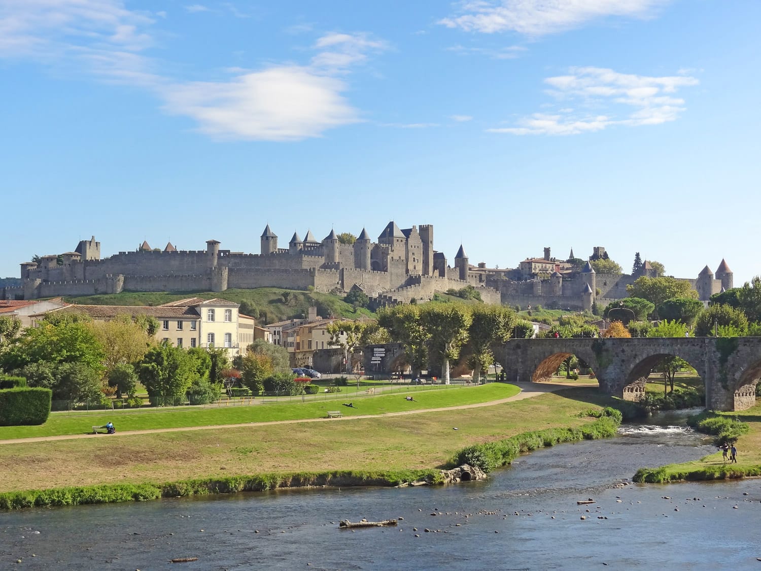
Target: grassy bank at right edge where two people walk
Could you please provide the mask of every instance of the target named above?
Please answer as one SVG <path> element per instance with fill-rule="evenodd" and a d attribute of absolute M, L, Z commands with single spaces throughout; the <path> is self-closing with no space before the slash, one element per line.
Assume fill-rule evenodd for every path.
<path fill-rule="evenodd" d="M 699 460 L 683 464 L 668 464 L 658 468 L 641 468 L 635 474 L 636 482 L 668 483 L 681 480 L 725 480 L 761 476 L 761 404 L 731 413 L 719 413 L 729 419 L 737 418 L 748 423 L 749 432 L 737 439 L 737 464 L 729 464 L 717 451 Z"/>

